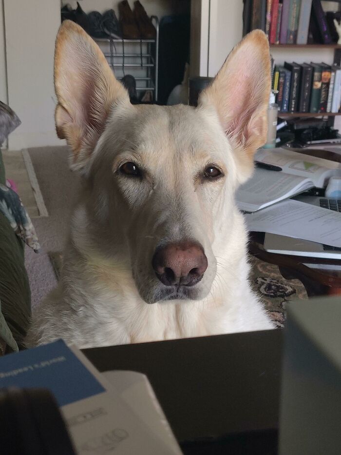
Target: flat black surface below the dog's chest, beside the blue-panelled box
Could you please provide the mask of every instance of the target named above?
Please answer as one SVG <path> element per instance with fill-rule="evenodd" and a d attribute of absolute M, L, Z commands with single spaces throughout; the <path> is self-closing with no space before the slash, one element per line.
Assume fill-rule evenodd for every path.
<path fill-rule="evenodd" d="M 185 454 L 277 453 L 281 330 L 83 352 L 99 371 L 146 374 Z"/>

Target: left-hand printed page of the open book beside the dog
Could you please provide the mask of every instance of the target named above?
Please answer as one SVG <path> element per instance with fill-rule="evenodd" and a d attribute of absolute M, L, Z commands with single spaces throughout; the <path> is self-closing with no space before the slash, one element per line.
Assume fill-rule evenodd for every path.
<path fill-rule="evenodd" d="M 256 168 L 253 176 L 238 188 L 235 199 L 240 210 L 255 212 L 313 186 L 303 177 Z"/>

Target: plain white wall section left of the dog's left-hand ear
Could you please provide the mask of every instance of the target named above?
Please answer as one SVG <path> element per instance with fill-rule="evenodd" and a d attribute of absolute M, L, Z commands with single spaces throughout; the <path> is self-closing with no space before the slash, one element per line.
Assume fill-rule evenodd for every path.
<path fill-rule="evenodd" d="M 53 59 L 60 3 L 56 0 L 4 0 L 8 103 L 21 125 L 9 136 L 9 149 L 60 145 L 54 110 Z"/>

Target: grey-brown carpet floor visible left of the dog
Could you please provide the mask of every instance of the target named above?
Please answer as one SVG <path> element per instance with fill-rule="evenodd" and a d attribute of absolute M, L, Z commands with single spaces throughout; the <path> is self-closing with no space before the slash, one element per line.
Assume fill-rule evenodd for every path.
<path fill-rule="evenodd" d="M 49 213 L 35 218 L 41 252 L 26 247 L 25 265 L 30 280 L 32 306 L 56 286 L 56 276 L 48 252 L 62 251 L 72 209 L 79 188 L 79 178 L 69 170 L 67 147 L 29 149 L 38 184 Z"/>

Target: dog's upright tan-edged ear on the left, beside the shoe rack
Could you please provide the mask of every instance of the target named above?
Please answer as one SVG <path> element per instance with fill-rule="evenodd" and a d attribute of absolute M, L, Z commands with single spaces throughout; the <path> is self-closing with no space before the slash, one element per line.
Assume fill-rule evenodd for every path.
<path fill-rule="evenodd" d="M 75 22 L 63 21 L 55 51 L 56 129 L 74 158 L 73 168 L 86 164 L 112 108 L 130 104 L 104 54 Z"/>

